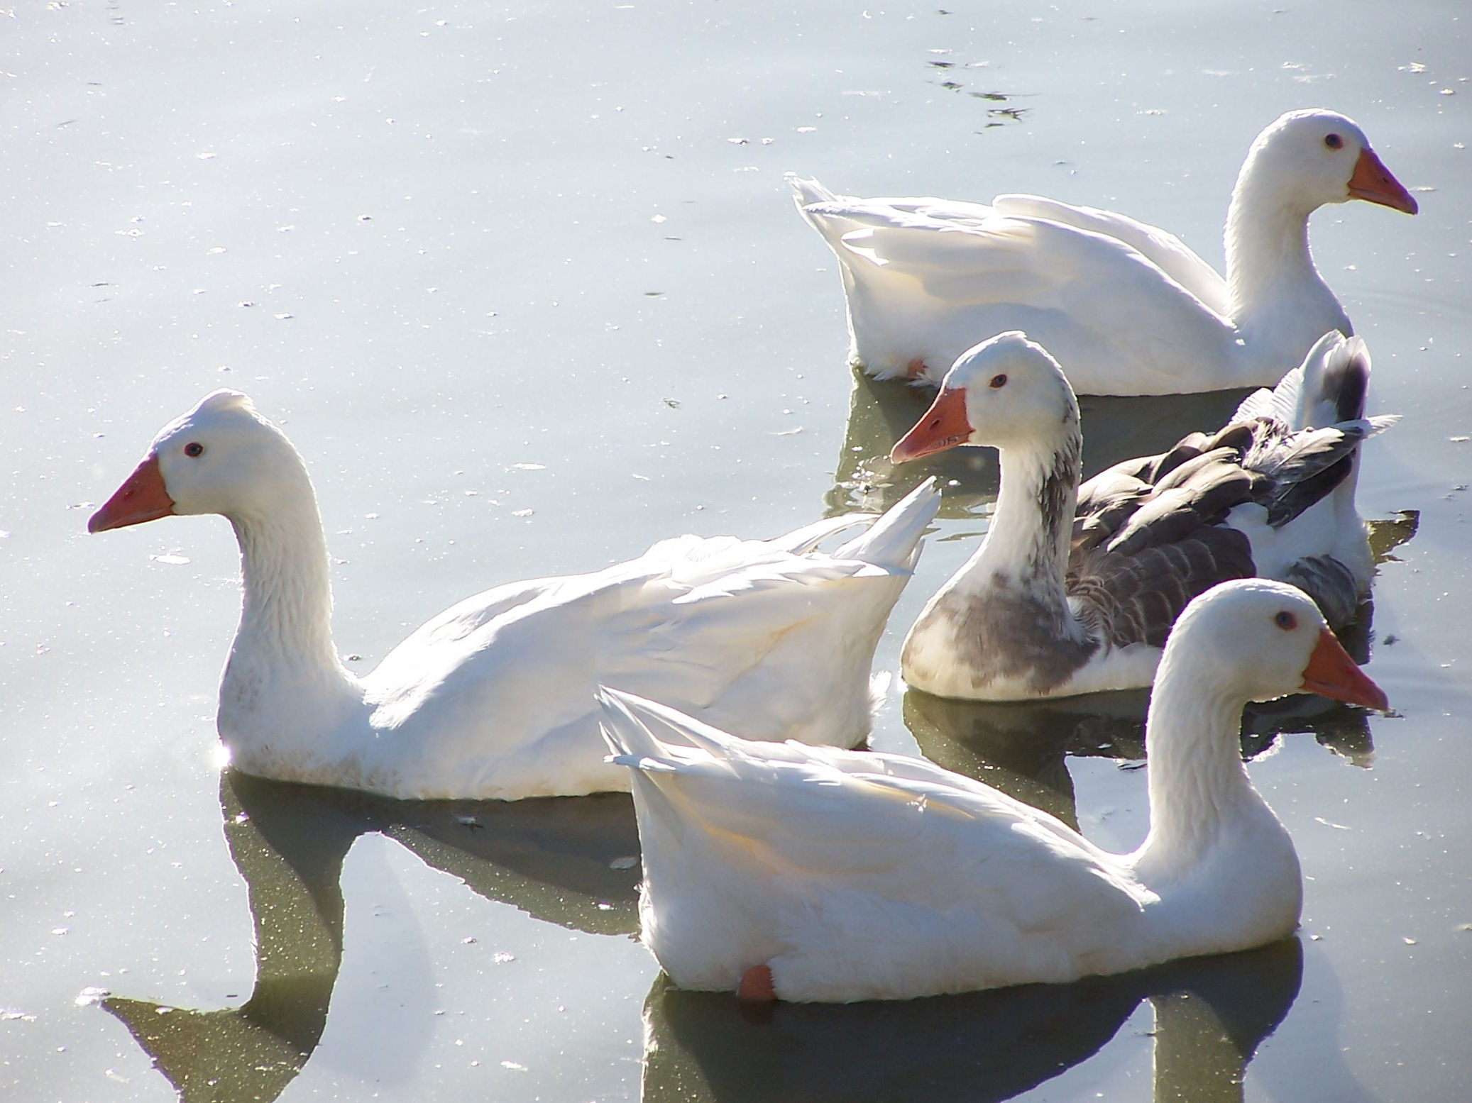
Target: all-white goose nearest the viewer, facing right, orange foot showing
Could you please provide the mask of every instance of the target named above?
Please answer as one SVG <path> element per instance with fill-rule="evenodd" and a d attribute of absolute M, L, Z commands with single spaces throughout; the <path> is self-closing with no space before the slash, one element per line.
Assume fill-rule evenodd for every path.
<path fill-rule="evenodd" d="M 1385 694 L 1303 593 L 1228 582 L 1170 637 L 1150 834 L 1113 854 L 923 759 L 745 743 L 605 691 L 634 774 L 643 941 L 682 988 L 843 1003 L 1061 982 L 1288 935 L 1292 840 L 1247 777 L 1242 706 Z"/>

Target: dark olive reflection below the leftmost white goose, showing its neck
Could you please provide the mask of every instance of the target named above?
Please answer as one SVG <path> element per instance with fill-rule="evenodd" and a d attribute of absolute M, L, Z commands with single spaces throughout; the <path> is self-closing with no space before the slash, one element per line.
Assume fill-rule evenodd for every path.
<path fill-rule="evenodd" d="M 240 1007 L 105 999 L 185 1102 L 272 1100 L 327 1025 L 343 954 L 343 859 L 389 835 L 490 900 L 592 934 L 637 929 L 639 835 L 627 794 L 397 802 L 227 771 L 219 804 L 246 881 L 256 984 Z"/>

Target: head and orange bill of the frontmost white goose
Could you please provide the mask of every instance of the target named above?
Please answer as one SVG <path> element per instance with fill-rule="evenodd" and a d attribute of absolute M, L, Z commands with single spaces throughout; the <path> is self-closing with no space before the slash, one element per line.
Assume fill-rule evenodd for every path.
<path fill-rule="evenodd" d="M 1387 709 L 1385 691 L 1356 665 L 1307 594 L 1266 578 L 1222 582 L 1181 613 L 1157 685 L 1179 671 L 1191 691 L 1239 702 L 1291 693 Z M 1173 679 L 1172 679 L 1173 681 Z"/>

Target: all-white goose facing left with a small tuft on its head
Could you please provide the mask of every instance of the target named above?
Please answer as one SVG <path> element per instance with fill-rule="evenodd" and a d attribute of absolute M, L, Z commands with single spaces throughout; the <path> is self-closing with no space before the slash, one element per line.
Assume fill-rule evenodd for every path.
<path fill-rule="evenodd" d="M 215 391 L 169 422 L 88 529 L 230 519 L 244 606 L 218 727 L 236 768 L 390 797 L 511 800 L 629 787 L 604 762 L 599 681 L 752 737 L 860 743 L 874 646 L 938 503 L 927 484 L 877 521 L 835 518 L 770 541 L 684 535 L 593 574 L 487 590 L 365 678 L 333 646 L 306 466 L 244 394 Z M 858 525 L 870 526 L 832 554 L 814 550 Z"/>

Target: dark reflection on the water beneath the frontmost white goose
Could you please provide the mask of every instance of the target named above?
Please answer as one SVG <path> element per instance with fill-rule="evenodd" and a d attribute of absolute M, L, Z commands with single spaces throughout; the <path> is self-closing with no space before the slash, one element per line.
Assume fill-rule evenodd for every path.
<path fill-rule="evenodd" d="M 1301 978 L 1297 938 L 1075 984 L 760 1015 L 661 975 L 645 1000 L 643 1102 L 1010 1099 L 1091 1057 L 1145 999 L 1156 1099 L 1241 1100 Z"/>

